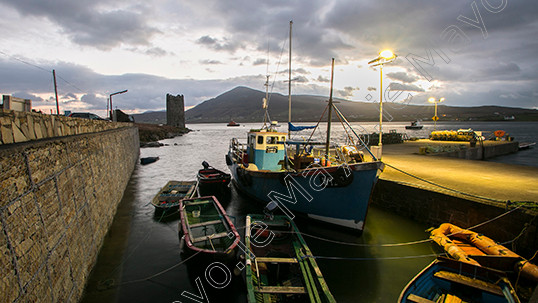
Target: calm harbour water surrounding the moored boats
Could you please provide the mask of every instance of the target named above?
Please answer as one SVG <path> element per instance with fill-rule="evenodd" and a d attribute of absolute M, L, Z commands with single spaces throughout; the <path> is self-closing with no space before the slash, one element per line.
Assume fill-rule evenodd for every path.
<path fill-rule="evenodd" d="M 384 132 L 390 129 L 404 131 L 405 125 L 387 123 Z M 363 126 L 365 132 L 376 128 L 374 123 Z M 521 141 L 537 142 L 538 139 L 534 134 L 536 126 L 537 123 L 476 122 L 439 123 L 437 128 L 471 127 L 475 130 L 488 131 L 503 129 Z M 113 228 L 103 247 L 104 251 L 108 246 L 120 245 L 126 240 L 125 251 L 112 256 L 104 253 L 100 255 L 96 270 L 90 278 L 88 287 L 90 295 L 84 302 L 103 302 L 102 298 L 96 299 L 102 292 L 96 290 L 93 285 L 108 279 L 115 279 L 113 284 L 123 284 L 113 287 L 112 289 L 116 289 L 117 292 L 114 296 L 107 297 L 105 301 L 195 302 L 182 297 L 182 292 L 198 294 L 196 278 L 200 278 L 210 302 L 246 301 L 244 284 L 240 277 L 234 278 L 228 287 L 216 291 L 207 283 L 204 276 L 205 267 L 200 266 L 196 257 L 163 274 L 146 279 L 183 260 L 179 252 L 178 218 L 162 218 L 155 215 L 153 206 L 149 204 L 153 196 L 168 180 L 194 180 L 204 160 L 214 167 L 227 171 L 224 155 L 228 149 L 229 139 L 246 138 L 246 131 L 251 127 L 259 127 L 259 124 L 233 128 L 220 124 L 193 124 L 188 127 L 194 131 L 182 137 L 161 141 L 168 146 L 141 149 L 141 157 L 159 156 L 160 160 L 146 166 L 137 165 L 119 210 L 120 213 L 127 213 L 125 217 L 130 218 L 131 222 L 122 226 L 128 232 L 125 236 L 115 232 L 116 228 Z M 426 137 L 431 129 L 433 125 L 426 124 L 424 130 L 412 134 Z M 334 136 L 342 137 L 342 129 L 336 128 Z M 538 166 L 537 150 L 538 148 L 531 149 L 495 161 Z M 230 198 L 223 199 L 222 202 L 238 227 L 244 226 L 247 213 L 258 213 L 262 209 L 261 205 L 251 203 L 233 189 Z M 314 255 L 341 258 L 318 260 L 329 288 L 338 302 L 395 302 L 406 283 L 433 260 L 433 257 L 423 257 L 432 254 L 430 244 L 379 246 L 379 244 L 426 239 L 427 234 L 424 230 L 429 226 L 374 207 L 369 211 L 366 230 L 361 237 L 312 222 L 297 223 L 303 233 L 360 245 L 332 244 L 305 237 Z M 240 232 L 243 230 L 240 229 Z M 413 256 L 422 257 L 410 258 Z M 141 281 L 133 282 L 137 280 Z"/>

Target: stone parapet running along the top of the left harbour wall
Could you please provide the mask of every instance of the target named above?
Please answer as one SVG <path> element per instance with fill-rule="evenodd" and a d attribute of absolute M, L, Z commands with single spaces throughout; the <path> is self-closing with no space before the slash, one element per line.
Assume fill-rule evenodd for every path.
<path fill-rule="evenodd" d="M 79 135 L 130 125 L 1 109 L 0 144 Z"/>

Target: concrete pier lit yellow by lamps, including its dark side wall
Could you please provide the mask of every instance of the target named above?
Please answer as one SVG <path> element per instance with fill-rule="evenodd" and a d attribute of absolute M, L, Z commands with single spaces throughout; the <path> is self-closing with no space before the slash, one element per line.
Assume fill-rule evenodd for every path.
<path fill-rule="evenodd" d="M 501 150 L 502 144 L 495 147 Z M 374 204 L 432 226 L 451 222 L 465 228 L 519 207 L 477 231 L 499 242 L 517 240 L 512 247 L 532 256 L 538 249 L 538 168 L 421 155 L 420 147 L 420 142 L 383 146 L 387 167 Z"/>

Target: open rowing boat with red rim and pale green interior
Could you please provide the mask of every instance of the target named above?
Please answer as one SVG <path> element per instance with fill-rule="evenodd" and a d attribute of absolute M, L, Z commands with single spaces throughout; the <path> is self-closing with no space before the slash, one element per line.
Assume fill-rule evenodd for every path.
<path fill-rule="evenodd" d="M 188 253 L 203 253 L 215 260 L 235 260 L 239 233 L 214 196 L 180 202 L 180 237 Z"/>

